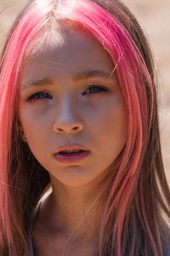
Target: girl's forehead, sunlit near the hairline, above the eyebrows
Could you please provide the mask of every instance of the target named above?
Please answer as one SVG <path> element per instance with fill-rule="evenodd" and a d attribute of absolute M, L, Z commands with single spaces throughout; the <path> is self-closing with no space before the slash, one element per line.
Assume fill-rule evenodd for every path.
<path fill-rule="evenodd" d="M 102 44 L 80 29 L 59 29 L 34 39 L 26 53 L 23 79 L 42 74 L 59 78 L 94 69 L 113 71 L 111 58 Z"/>

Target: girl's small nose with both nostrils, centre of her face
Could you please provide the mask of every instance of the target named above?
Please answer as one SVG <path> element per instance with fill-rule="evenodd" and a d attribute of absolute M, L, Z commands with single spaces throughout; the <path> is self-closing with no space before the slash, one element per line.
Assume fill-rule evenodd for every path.
<path fill-rule="evenodd" d="M 54 131 L 63 133 L 77 133 L 84 128 L 82 119 L 80 118 L 79 108 L 70 102 L 65 102 L 60 108 L 57 115 L 56 122 L 54 123 Z"/>

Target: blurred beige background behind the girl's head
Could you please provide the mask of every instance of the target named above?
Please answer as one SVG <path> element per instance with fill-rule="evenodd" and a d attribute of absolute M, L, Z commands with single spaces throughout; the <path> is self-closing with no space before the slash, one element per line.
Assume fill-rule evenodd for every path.
<path fill-rule="evenodd" d="M 136 14 L 159 61 L 161 89 L 161 142 L 165 172 L 170 184 L 170 0 L 124 0 Z M 27 0 L 0 0 L 0 45 Z"/>

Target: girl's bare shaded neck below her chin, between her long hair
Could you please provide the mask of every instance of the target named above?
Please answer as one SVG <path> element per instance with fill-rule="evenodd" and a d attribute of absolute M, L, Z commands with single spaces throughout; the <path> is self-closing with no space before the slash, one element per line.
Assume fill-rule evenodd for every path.
<path fill-rule="evenodd" d="M 41 207 L 41 222 L 45 226 L 62 230 L 70 236 L 75 230 L 79 241 L 91 241 L 99 237 L 101 209 L 95 202 L 97 191 L 89 197 L 91 185 L 69 187 L 58 180 L 51 181 L 52 192 Z"/>

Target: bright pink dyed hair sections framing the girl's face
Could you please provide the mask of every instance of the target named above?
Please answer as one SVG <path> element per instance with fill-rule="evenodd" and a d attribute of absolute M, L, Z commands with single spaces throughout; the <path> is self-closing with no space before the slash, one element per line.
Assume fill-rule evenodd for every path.
<path fill-rule="evenodd" d="M 13 136 L 11 131 L 14 129 L 14 119 L 19 109 L 23 60 L 26 49 L 31 44 L 31 41 L 38 33 L 46 29 L 46 25 L 51 22 L 52 17 L 56 17 L 56 23 L 59 20 L 72 20 L 82 24 L 82 27 L 87 30 L 89 35 L 93 35 L 108 51 L 115 65 L 113 72 L 117 75 L 119 87 L 128 111 L 127 143 L 122 154 L 119 155 L 107 173 L 107 175 L 111 175 L 112 183 L 109 186 L 110 190 L 107 202 L 105 203 L 105 211 L 103 212 L 99 256 L 104 255 L 102 253 L 106 249 L 102 247 L 102 241 L 108 244 L 110 239 L 109 235 L 105 236 L 104 234 L 105 227 L 107 227 L 113 212 L 115 222 L 109 232 L 110 234 L 112 233 L 112 239 L 116 241 L 116 246 L 112 243 L 111 255 L 113 255 L 113 249 L 116 250 L 114 255 L 127 255 L 127 225 L 130 216 L 131 218 L 136 218 L 134 212 L 131 212 L 132 215 L 130 215 L 131 209 L 129 207 L 134 207 L 134 205 L 136 205 L 140 227 L 143 228 L 150 243 L 151 252 L 154 256 L 162 255 L 160 236 L 158 234 L 155 237 L 153 233 L 152 225 L 156 222 L 151 221 L 148 215 L 148 204 L 146 198 L 144 198 L 144 181 L 141 177 L 142 175 L 147 175 L 146 171 L 145 173 L 142 172 L 142 167 L 144 166 L 144 157 L 146 157 L 149 148 L 148 142 L 153 122 L 155 99 L 153 81 L 151 79 L 152 74 L 149 73 L 142 50 L 139 49 L 130 32 L 128 32 L 132 29 L 131 20 L 125 15 L 125 9 L 119 6 L 117 2 L 108 1 L 107 6 L 108 9 L 114 9 L 114 12 L 119 14 L 122 19 L 121 22 L 118 17 L 114 17 L 106 9 L 90 0 L 65 0 L 62 3 L 62 8 L 60 8 L 59 1 L 58 9 L 55 7 L 55 0 L 37 0 L 32 2 L 29 8 L 26 8 L 24 14 L 14 27 L 0 62 L 1 245 L 3 245 L 3 234 L 7 236 L 8 244 L 13 244 L 14 241 L 14 234 L 11 233 L 11 209 L 15 209 L 12 216 L 17 220 L 17 207 L 13 205 L 12 198 L 9 197 L 8 193 L 8 186 L 11 186 L 8 176 L 12 175 L 10 163 L 14 159 L 11 152 L 11 143 L 18 136 L 18 134 Z M 145 87 L 147 87 L 147 90 Z M 18 129 L 17 122 L 15 129 L 16 131 Z M 20 152 L 19 143 L 16 145 L 16 148 L 17 152 Z M 152 157 L 154 158 L 154 156 Z M 14 177 L 20 177 L 20 172 L 20 166 L 17 166 Z M 151 183 L 150 186 L 152 186 Z M 21 188 L 22 186 L 14 187 L 14 191 L 21 190 L 20 195 L 22 197 Z M 106 186 L 103 188 L 106 189 Z M 140 202 L 137 200 L 138 196 Z M 169 195 L 168 198 L 170 198 Z M 9 205 L 11 208 L 9 208 Z M 14 208 L 12 208 L 12 205 Z M 166 211 L 168 210 L 166 209 Z M 125 222 L 126 220 L 127 222 Z M 18 225 L 18 229 L 21 230 L 22 223 L 20 221 L 18 224 L 15 223 L 15 225 L 16 229 Z M 134 233 L 132 235 L 134 239 L 136 239 L 136 229 L 137 225 L 132 225 L 131 230 Z M 155 230 L 159 233 L 158 225 L 156 225 Z M 20 234 L 22 234 L 21 231 Z M 129 255 L 135 255 L 133 254 L 135 251 L 133 247 Z M 14 249 L 13 253 L 16 253 Z"/>

